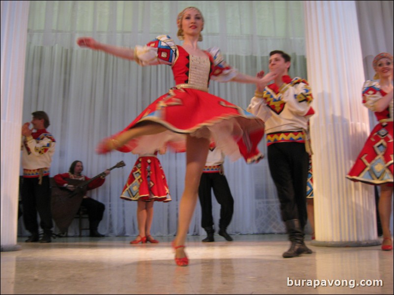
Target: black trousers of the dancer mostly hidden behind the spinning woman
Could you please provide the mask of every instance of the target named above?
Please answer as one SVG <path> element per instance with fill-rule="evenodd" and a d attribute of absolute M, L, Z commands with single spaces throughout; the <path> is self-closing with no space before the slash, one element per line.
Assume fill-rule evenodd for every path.
<path fill-rule="evenodd" d="M 227 228 L 230 224 L 234 212 L 234 199 L 231 196 L 225 175 L 214 173 L 202 173 L 200 184 L 198 186 L 198 197 L 201 204 L 201 226 L 208 227 L 213 225 L 212 217 L 212 195 L 215 194 L 216 200 L 220 204 L 220 228 Z"/>

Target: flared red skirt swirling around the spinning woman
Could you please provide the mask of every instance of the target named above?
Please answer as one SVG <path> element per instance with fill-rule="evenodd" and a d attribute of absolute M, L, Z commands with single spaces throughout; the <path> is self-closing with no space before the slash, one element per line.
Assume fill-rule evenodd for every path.
<path fill-rule="evenodd" d="M 144 121 L 156 122 L 167 131 L 134 138 L 123 152 L 143 153 L 147 148 L 169 147 L 186 151 L 186 135 L 209 137 L 232 160 L 243 157 L 247 163 L 258 162 L 262 155 L 257 144 L 264 135 L 264 123 L 244 109 L 217 96 L 196 89 L 170 91 L 151 103 L 132 123 L 114 136 Z"/>

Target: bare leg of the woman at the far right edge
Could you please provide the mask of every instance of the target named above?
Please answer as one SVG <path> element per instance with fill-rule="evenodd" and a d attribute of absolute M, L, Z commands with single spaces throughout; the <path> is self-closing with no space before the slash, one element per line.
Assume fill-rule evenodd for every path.
<path fill-rule="evenodd" d="M 390 216 L 391 199 L 393 197 L 393 187 L 386 184 L 380 186 L 379 216 L 382 223 L 383 237 L 390 240 L 383 240 L 383 245 L 391 245 Z"/>

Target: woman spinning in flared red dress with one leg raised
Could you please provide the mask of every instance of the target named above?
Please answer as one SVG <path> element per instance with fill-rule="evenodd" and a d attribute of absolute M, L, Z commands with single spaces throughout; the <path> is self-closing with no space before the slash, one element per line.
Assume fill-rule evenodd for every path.
<path fill-rule="evenodd" d="M 199 49 L 197 42 L 202 40 L 200 32 L 204 19 L 195 7 L 180 12 L 177 25 L 177 35 L 184 40 L 182 46 L 175 45 L 165 35 L 135 49 L 114 47 L 86 37 L 77 42 L 81 47 L 135 60 L 142 66 L 166 64 L 172 68 L 176 86 L 149 105 L 123 131 L 105 139 L 98 151 L 104 153 L 117 149 L 141 153 L 144 147 L 160 149 L 164 145 L 176 152 L 186 151 L 185 188 L 179 204 L 177 236 L 172 246 L 176 264 L 187 266 L 189 260 L 184 244 L 209 145 L 214 143 L 233 160 L 243 156 L 252 163 L 261 159 L 256 147 L 264 134 L 264 123 L 260 119 L 209 94 L 209 80 L 254 83 L 264 88 L 276 74 L 269 73 L 261 79 L 241 74 L 225 63 L 219 49 Z"/>

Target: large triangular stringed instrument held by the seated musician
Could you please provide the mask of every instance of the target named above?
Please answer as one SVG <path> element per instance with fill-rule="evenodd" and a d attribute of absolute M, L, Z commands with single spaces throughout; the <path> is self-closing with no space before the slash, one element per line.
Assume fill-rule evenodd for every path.
<path fill-rule="evenodd" d="M 126 164 L 123 161 L 120 161 L 115 166 L 107 170 L 111 171 L 115 168 L 124 166 L 126 166 Z M 70 191 L 66 187 L 58 186 L 55 179 L 50 177 L 52 218 L 61 233 L 67 231 L 67 228 L 70 226 L 79 208 L 81 207 L 82 199 L 84 198 L 87 191 L 87 185 L 98 177 L 104 175 L 106 175 L 105 171 L 97 174 L 89 180 L 66 178 L 65 180 L 74 186 L 73 191 Z"/>

